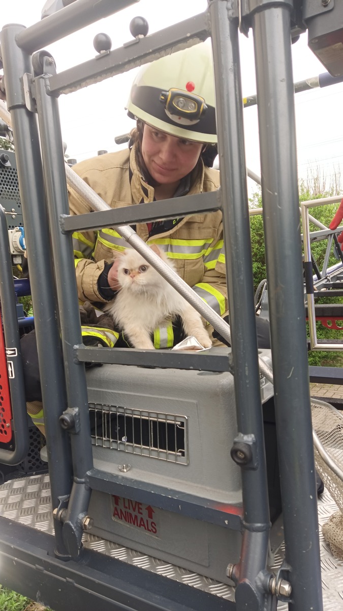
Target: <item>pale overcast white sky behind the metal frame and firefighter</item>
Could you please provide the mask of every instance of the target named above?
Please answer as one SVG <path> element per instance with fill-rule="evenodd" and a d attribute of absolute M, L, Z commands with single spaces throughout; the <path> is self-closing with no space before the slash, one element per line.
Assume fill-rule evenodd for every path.
<path fill-rule="evenodd" d="M 44 4 L 44 0 L 1 0 L 0 26 L 6 23 L 30 26 L 40 20 Z M 161 0 L 140 0 L 128 9 L 54 43 L 48 49 L 54 56 L 57 71 L 92 59 L 96 54 L 93 38 L 98 32 L 109 34 L 112 48 L 117 48 L 132 40 L 129 23 L 134 16 L 145 17 L 150 27 L 149 34 L 152 34 L 206 10 L 207 0 L 173 0 L 164 7 L 162 12 Z M 256 83 L 251 31 L 249 38 L 240 37 L 240 54 L 243 95 L 253 95 Z M 292 56 L 294 82 L 325 72 L 323 65 L 308 49 L 307 34 L 301 35 L 300 40 L 292 45 Z M 60 97 L 62 137 L 70 157 L 81 161 L 96 155 L 99 149 L 113 151 L 121 148 L 115 144 L 114 137 L 126 133 L 133 126 L 124 107 L 136 71 Z M 308 169 L 317 167 L 323 175 L 330 177 L 343 167 L 342 97 L 343 84 L 295 95 L 300 177 L 306 178 Z M 244 122 L 247 166 L 260 174 L 256 106 L 244 110 Z"/>

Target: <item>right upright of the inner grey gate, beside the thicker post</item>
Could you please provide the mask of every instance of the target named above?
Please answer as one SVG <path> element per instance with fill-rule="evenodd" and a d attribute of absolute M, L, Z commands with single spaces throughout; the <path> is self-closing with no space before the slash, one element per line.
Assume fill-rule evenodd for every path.
<path fill-rule="evenodd" d="M 256 578 L 265 570 L 270 516 L 258 344 L 255 323 L 253 266 L 245 167 L 238 14 L 233 2 L 209 0 L 216 91 L 218 154 L 223 207 L 226 277 L 233 351 L 237 425 L 242 442 L 253 437 L 256 456 L 241 469 L 244 521 L 240 563 L 234 568 L 237 609 L 262 609 L 272 598 L 268 582 Z M 237 7 L 236 7 L 237 8 Z M 260 576 L 261 577 L 261 576 Z M 264 607 L 263 607 L 264 608 Z"/>

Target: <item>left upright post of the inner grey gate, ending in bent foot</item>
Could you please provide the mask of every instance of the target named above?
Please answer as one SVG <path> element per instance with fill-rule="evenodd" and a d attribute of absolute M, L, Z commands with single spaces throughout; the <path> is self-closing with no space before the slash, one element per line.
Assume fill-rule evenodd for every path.
<path fill-rule="evenodd" d="M 43 75 L 35 78 L 35 99 L 42 146 L 43 173 L 49 210 L 51 243 L 55 267 L 57 301 L 59 302 L 62 351 L 65 362 L 68 408 L 64 412 L 65 428 L 71 433 L 73 456 L 73 488 L 65 520 L 63 540 L 72 556 L 79 554 L 82 539 L 82 519 L 87 516 L 91 489 L 85 476 L 93 467 L 90 419 L 88 415 L 85 365 L 74 359 L 74 346 L 82 343 L 78 288 L 76 285 L 73 238 L 63 234 L 59 219 L 69 212 L 62 132 L 57 98 L 48 95 L 46 70 L 54 71 L 51 57 L 43 57 Z M 33 58 L 34 59 L 34 58 Z"/>

